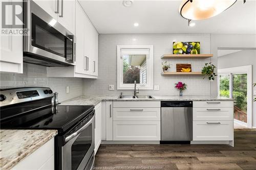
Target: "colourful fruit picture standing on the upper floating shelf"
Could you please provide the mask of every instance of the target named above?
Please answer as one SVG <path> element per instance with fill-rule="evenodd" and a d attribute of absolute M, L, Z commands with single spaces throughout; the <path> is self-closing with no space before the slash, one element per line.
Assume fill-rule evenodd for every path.
<path fill-rule="evenodd" d="M 173 42 L 173 54 L 200 54 L 200 42 Z"/>

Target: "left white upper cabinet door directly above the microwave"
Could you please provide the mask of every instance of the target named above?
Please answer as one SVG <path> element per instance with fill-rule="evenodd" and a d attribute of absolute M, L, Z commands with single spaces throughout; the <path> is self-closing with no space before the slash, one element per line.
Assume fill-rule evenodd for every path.
<path fill-rule="evenodd" d="M 45 10 L 54 19 L 58 19 L 59 6 L 57 5 L 60 0 L 33 0 L 38 6 Z"/>

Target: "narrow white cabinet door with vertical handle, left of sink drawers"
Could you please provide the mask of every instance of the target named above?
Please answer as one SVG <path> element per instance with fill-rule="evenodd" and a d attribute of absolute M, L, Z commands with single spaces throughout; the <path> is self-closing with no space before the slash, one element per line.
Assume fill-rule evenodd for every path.
<path fill-rule="evenodd" d="M 106 140 L 113 140 L 113 102 L 106 102 Z"/>

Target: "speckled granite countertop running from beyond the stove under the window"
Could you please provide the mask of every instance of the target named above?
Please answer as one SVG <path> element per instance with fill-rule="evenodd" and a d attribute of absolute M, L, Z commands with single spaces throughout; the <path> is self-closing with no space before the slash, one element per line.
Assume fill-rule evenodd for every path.
<path fill-rule="evenodd" d="M 80 95 L 76 98 L 63 101 L 60 105 L 97 105 L 101 101 L 233 101 L 223 97 L 208 95 L 152 95 L 155 99 L 118 99 L 119 95 Z"/>

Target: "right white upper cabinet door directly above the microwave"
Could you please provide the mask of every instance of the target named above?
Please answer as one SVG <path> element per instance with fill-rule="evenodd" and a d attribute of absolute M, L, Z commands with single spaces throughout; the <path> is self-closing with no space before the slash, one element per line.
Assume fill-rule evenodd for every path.
<path fill-rule="evenodd" d="M 58 22 L 69 30 L 71 33 L 75 33 L 75 0 L 59 0 L 59 13 Z"/>

